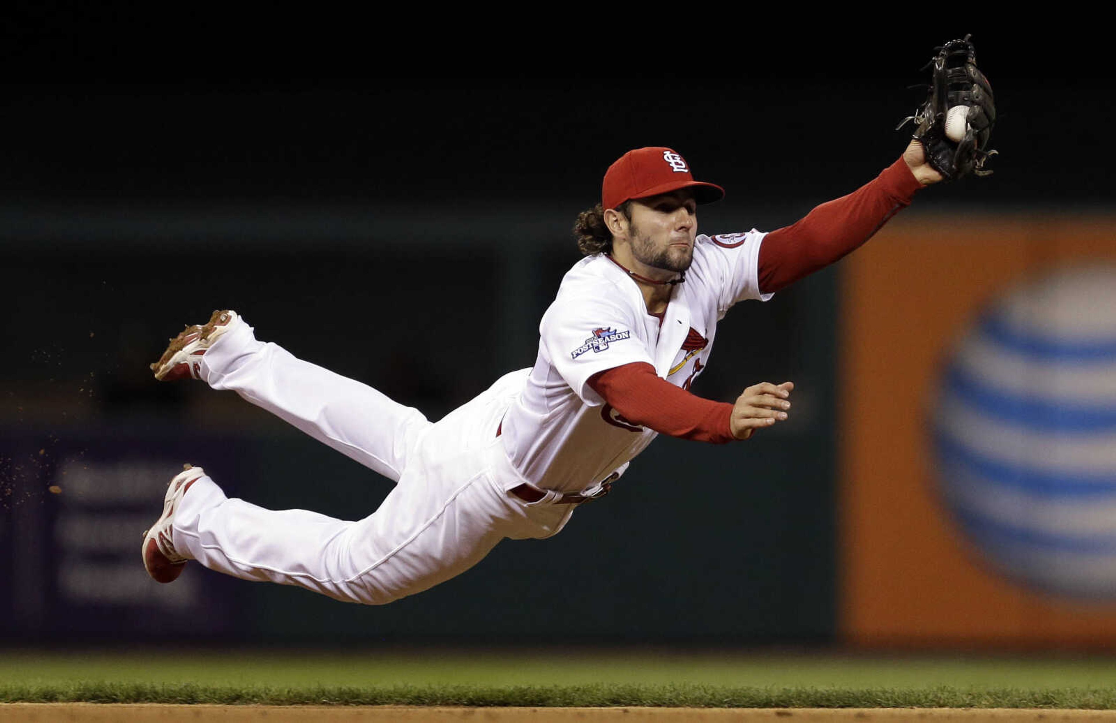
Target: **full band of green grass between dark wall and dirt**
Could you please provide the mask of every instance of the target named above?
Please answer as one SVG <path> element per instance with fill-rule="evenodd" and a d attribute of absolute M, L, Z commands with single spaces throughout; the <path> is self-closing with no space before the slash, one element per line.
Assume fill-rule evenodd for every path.
<path fill-rule="evenodd" d="M 0 653 L 0 701 L 1116 708 L 1116 658 L 523 653 Z"/>

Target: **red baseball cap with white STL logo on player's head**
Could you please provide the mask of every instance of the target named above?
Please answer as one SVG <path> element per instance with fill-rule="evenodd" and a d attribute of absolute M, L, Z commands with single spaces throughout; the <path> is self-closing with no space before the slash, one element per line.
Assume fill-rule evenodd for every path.
<path fill-rule="evenodd" d="M 600 188 L 600 204 L 616 208 L 629 199 L 670 193 L 680 188 L 693 189 L 699 203 L 724 198 L 724 189 L 720 185 L 695 181 L 685 159 L 672 149 L 636 149 L 608 167 Z"/>

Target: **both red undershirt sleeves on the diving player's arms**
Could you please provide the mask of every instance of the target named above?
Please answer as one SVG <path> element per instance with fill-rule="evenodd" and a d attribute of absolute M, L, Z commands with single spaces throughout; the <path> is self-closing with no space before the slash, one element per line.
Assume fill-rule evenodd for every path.
<path fill-rule="evenodd" d="M 901 158 L 848 196 L 771 231 L 760 244 L 760 291 L 777 292 L 854 251 L 908 206 L 920 188 Z M 661 379 L 646 362 L 598 372 L 589 387 L 632 424 L 696 441 L 733 439 L 732 405 L 691 394 Z"/>

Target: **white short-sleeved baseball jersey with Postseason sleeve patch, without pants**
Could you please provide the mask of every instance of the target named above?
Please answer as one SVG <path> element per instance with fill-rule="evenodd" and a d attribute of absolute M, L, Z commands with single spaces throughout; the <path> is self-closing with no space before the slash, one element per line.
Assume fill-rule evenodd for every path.
<path fill-rule="evenodd" d="M 612 259 L 581 259 L 562 279 L 539 325 L 539 354 L 522 396 L 503 421 L 512 466 L 545 489 L 593 492 L 658 432 L 637 427 L 593 391 L 590 377 L 646 362 L 689 389 L 705 368 L 716 323 L 760 294 L 763 234 L 698 236 L 685 282 L 676 284 L 663 321 L 647 313 L 639 287 Z M 588 487 L 588 489 L 587 489 Z"/>

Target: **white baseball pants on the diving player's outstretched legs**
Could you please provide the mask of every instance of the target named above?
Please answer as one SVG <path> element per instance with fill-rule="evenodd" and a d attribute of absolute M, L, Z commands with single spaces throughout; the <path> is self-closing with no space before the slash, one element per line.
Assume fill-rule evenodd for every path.
<path fill-rule="evenodd" d="M 573 505 L 529 504 L 506 492 L 518 484 L 509 481 L 526 481 L 496 436 L 528 371 L 506 374 L 432 424 L 371 387 L 257 341 L 241 318 L 205 352 L 202 379 L 213 389 L 235 391 L 396 486 L 373 514 L 350 522 L 306 510 L 264 510 L 227 497 L 203 476 L 175 513 L 175 550 L 244 580 L 383 605 L 468 570 L 504 538 L 556 534 Z"/>

